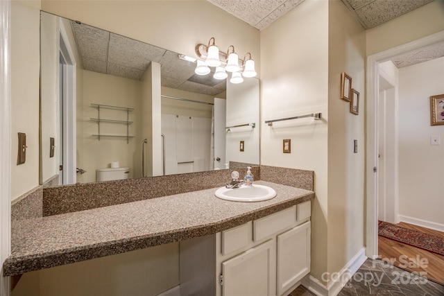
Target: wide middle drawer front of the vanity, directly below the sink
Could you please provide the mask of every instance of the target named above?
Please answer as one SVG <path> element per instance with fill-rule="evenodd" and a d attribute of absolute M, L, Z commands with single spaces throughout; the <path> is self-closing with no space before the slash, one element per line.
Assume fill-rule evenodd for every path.
<path fill-rule="evenodd" d="M 296 206 L 253 221 L 253 241 L 260 241 L 296 223 Z"/>

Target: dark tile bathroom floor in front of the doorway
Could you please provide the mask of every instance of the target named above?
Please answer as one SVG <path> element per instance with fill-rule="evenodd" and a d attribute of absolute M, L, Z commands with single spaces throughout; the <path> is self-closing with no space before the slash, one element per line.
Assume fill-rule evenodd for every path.
<path fill-rule="evenodd" d="M 299 286 L 289 296 L 315 295 Z M 411 272 L 367 259 L 338 296 L 444 296 L 444 286 Z"/>

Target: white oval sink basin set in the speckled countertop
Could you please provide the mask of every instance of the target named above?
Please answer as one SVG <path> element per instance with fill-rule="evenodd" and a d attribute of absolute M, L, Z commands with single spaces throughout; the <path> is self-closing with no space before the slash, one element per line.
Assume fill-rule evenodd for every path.
<path fill-rule="evenodd" d="M 262 202 L 274 198 L 276 191 L 268 186 L 253 184 L 253 186 L 242 185 L 234 189 L 221 187 L 214 194 L 217 198 L 234 202 Z"/>

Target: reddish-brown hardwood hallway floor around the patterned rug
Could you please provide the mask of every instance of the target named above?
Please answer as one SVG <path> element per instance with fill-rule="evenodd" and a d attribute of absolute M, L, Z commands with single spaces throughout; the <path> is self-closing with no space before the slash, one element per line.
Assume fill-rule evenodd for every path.
<path fill-rule="evenodd" d="M 444 232 L 402 222 L 398 225 L 444 238 Z M 378 236 L 378 243 L 380 259 L 392 261 L 393 265 L 411 272 L 418 272 L 420 275 L 422 272 L 422 275 L 425 275 L 427 279 L 444 285 L 444 256 L 398 243 L 382 236 Z"/>

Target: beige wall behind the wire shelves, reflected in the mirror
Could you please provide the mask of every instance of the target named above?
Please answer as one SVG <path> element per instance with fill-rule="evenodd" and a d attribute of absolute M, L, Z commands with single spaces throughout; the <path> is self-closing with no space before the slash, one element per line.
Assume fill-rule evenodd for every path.
<path fill-rule="evenodd" d="M 83 182 L 96 182 L 96 169 L 109 168 L 111 162 L 119 162 L 121 168 L 130 168 L 128 177 L 141 176 L 140 142 L 142 141 L 142 82 L 139 80 L 121 78 L 103 73 L 83 70 L 83 146 L 77 145 L 83 150 Z M 126 121 L 129 115 L 128 125 L 129 139 L 119 137 L 98 137 L 98 125 L 92 118 L 97 118 L 97 108 L 91 107 L 91 103 L 112 105 L 117 107 L 134 108 L 133 112 L 101 109 L 101 119 L 114 119 Z M 100 123 L 101 134 L 126 135 L 125 124 Z"/>

